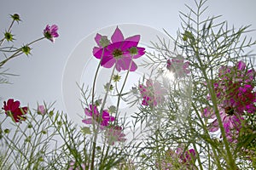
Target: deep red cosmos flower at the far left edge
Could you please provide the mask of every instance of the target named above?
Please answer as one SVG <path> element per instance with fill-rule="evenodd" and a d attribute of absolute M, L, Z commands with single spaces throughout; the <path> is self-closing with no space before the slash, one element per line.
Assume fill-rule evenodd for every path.
<path fill-rule="evenodd" d="M 20 108 L 20 101 L 15 101 L 14 99 L 9 99 L 3 102 L 3 108 L 7 116 L 11 116 L 15 122 L 25 121 L 27 107 Z"/>

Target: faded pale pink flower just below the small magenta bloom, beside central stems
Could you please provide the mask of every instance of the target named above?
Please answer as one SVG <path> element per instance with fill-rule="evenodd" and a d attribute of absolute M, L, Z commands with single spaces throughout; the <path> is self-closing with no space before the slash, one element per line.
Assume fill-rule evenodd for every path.
<path fill-rule="evenodd" d="M 122 127 L 113 126 L 106 129 L 106 138 L 108 144 L 114 144 L 114 142 L 125 142 L 125 133 L 123 133 Z"/>

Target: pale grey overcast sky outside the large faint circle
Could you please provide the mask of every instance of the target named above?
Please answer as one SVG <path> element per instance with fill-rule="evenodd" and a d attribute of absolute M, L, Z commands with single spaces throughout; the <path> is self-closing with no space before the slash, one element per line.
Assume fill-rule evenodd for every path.
<path fill-rule="evenodd" d="M 60 37 L 55 43 L 44 40 L 34 44 L 31 56 L 22 55 L 5 65 L 9 72 L 20 76 L 9 78 L 13 84 L 1 85 L 1 104 L 9 98 L 19 99 L 21 105 L 29 104 L 32 107 L 44 100 L 47 103 L 56 101 L 56 109 L 65 111 L 63 73 L 73 50 L 84 38 L 108 26 L 123 24 L 148 26 L 149 30 L 160 32 L 164 28 L 175 36 L 180 27 L 179 11 L 188 12 L 184 3 L 191 7 L 195 5 L 192 0 L 2 1 L 1 33 L 9 26 L 9 14 L 20 14 L 22 22 L 15 25 L 12 31 L 18 47 L 42 37 L 47 24 L 59 26 Z M 209 16 L 221 14 L 221 19 L 228 20 L 230 26 L 239 28 L 252 25 L 251 28 L 256 29 L 255 0 L 210 0 L 207 5 Z M 249 35 L 256 39 L 255 31 Z"/>

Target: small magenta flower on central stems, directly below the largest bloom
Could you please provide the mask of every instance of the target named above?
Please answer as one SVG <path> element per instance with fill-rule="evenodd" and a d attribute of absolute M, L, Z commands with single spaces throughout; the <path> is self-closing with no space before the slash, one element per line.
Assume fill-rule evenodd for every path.
<path fill-rule="evenodd" d="M 110 116 L 107 110 L 102 111 L 102 115 L 97 109 L 96 105 L 89 105 L 90 108 L 85 108 L 84 113 L 86 116 L 91 116 L 82 120 L 85 124 L 99 123 L 101 127 L 107 127 L 109 122 L 114 121 L 114 117 Z"/>

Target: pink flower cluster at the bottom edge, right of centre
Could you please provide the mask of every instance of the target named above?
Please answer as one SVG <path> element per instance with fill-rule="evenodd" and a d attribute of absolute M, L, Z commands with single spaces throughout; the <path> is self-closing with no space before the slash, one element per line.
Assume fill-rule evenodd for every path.
<path fill-rule="evenodd" d="M 171 170 L 171 169 L 196 169 L 195 168 L 195 150 L 184 150 L 183 148 L 177 148 L 177 150 L 167 150 L 165 160 L 161 163 L 157 163 L 157 167 L 161 169 Z"/>

